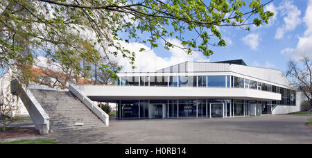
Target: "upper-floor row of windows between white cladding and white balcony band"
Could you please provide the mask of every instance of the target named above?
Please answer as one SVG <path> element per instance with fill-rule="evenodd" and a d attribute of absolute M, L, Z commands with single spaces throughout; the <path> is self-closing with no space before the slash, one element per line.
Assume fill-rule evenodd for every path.
<path fill-rule="evenodd" d="M 232 87 L 257 89 L 281 94 L 277 105 L 295 105 L 295 91 L 236 76 L 130 76 L 120 77 L 121 86 L 155 87 Z"/>

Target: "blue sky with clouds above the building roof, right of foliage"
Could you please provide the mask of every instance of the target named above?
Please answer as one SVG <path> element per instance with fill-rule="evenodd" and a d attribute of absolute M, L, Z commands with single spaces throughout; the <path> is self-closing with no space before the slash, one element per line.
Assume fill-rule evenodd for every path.
<path fill-rule="evenodd" d="M 179 49 L 167 51 L 163 49 L 162 42 L 159 42 L 159 48 L 137 53 L 136 70 L 131 70 L 127 66 L 128 62 L 120 58 L 119 63 L 123 66 L 123 71 L 153 71 L 184 62 L 183 60 L 215 62 L 243 59 L 250 66 L 284 72 L 288 60 L 299 60 L 301 54 L 312 58 L 312 11 L 309 11 L 312 10 L 312 0 L 275 0 L 265 9 L 275 12 L 270 24 L 250 26 L 250 31 L 233 27 L 220 28 L 227 46 L 213 47 L 214 54 L 209 60 L 200 53 L 184 55 Z M 179 43 L 173 38 L 168 40 Z M 137 52 L 138 47 L 144 45 L 133 42 L 127 46 Z M 149 49 L 148 45 L 144 47 Z M 153 62 L 157 64 L 152 64 Z"/>

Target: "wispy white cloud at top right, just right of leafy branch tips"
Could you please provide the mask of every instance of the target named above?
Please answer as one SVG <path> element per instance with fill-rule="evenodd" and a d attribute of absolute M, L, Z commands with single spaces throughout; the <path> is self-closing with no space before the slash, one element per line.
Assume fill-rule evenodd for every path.
<path fill-rule="evenodd" d="M 297 8 L 297 6 L 293 5 L 293 1 L 281 2 L 277 10 L 281 12 L 281 15 L 286 15 L 286 17 L 284 17 L 284 25 L 277 28 L 275 33 L 275 38 L 281 39 L 284 37 L 286 32 L 294 30 L 298 25 L 300 25 L 302 21 L 300 19 L 301 11 Z"/>

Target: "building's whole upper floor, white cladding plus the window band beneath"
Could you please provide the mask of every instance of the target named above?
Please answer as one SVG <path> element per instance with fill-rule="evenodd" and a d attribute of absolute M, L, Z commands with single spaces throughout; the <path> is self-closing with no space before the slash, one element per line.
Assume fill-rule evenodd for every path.
<path fill-rule="evenodd" d="M 295 100 L 295 91 L 281 71 L 250 67 L 243 60 L 182 62 L 156 72 L 117 75 L 116 84 L 121 86 L 256 89 L 281 94 L 280 104 L 292 105 Z"/>

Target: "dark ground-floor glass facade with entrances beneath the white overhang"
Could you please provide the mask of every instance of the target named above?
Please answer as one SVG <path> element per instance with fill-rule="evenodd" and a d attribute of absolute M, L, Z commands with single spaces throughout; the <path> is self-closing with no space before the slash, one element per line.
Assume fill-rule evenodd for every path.
<path fill-rule="evenodd" d="M 250 104 L 261 105 L 261 115 L 266 115 L 272 113 L 274 102 L 236 99 L 116 100 L 116 118 L 153 119 L 158 116 L 158 118 L 170 119 L 250 116 Z M 149 114 L 153 116 L 149 116 Z"/>

